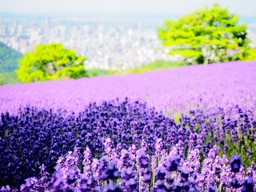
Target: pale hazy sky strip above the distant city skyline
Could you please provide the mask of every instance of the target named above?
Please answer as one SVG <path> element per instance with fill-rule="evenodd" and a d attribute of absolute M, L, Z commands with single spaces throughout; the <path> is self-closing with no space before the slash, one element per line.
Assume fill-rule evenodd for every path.
<path fill-rule="evenodd" d="M 0 0 L 1 12 L 38 14 L 187 14 L 218 2 L 232 13 L 256 16 L 256 0 Z"/>

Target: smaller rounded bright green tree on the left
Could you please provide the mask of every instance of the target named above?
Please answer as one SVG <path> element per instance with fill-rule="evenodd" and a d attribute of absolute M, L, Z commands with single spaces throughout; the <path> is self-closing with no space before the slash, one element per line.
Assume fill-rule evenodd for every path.
<path fill-rule="evenodd" d="M 60 43 L 38 45 L 34 51 L 23 55 L 15 72 L 21 82 L 81 78 L 86 76 L 85 60 Z"/>

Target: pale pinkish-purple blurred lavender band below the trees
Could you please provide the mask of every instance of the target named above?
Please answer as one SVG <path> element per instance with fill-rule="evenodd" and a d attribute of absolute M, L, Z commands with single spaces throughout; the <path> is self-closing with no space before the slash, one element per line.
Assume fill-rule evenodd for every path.
<path fill-rule="evenodd" d="M 115 98 L 142 100 L 165 114 L 191 108 L 239 105 L 254 109 L 256 62 L 188 66 L 126 76 L 39 82 L 0 87 L 0 111 L 17 113 L 27 105 L 79 112 L 90 102 Z"/>

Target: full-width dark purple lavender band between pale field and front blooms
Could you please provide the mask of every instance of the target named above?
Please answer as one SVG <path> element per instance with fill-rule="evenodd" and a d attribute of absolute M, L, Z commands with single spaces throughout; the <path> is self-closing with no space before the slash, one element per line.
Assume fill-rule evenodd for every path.
<path fill-rule="evenodd" d="M 72 167 L 73 171 L 77 171 L 78 165 L 84 166 L 81 171 L 86 176 L 91 170 L 102 167 L 102 171 L 94 171 L 94 178 L 114 178 L 117 172 L 105 171 L 106 162 L 104 164 L 103 160 L 97 162 L 95 159 L 93 162 L 91 158 L 105 155 L 120 168 L 122 165 L 118 163 L 118 155 L 123 154 L 122 150 L 130 152 L 129 158 L 123 154 L 127 169 L 130 166 L 140 167 L 140 177 L 137 179 L 141 190 L 150 186 L 151 172 L 155 172 L 158 166 L 165 164 L 168 175 L 178 170 L 182 158 L 189 159 L 186 170 L 190 172 L 200 169 L 200 158 L 209 161 L 205 163 L 211 164 L 211 172 L 202 170 L 205 176 L 198 178 L 205 180 L 205 177 L 210 179 L 213 178 L 211 174 L 220 172 L 221 167 L 215 166 L 213 160 L 217 154 L 225 154 L 228 158 L 240 154 L 232 156 L 230 164 L 231 170 L 237 173 L 242 162 L 248 167 L 250 162 L 256 160 L 255 118 L 253 114 L 243 112 L 239 106 L 226 110 L 226 114 L 222 111 L 222 108 L 212 113 L 193 110 L 188 115 L 182 114 L 177 124 L 174 119 L 146 108 L 145 103 L 126 99 L 123 102 L 102 102 L 102 105 L 93 103 L 79 114 L 57 114 L 52 110 L 37 108 L 26 108 L 17 115 L 2 113 L 1 185 L 21 185 L 26 178 L 37 176 L 42 164 L 52 174 L 57 160 L 58 166 L 66 167 L 62 169 L 64 178 Z M 213 148 L 214 145 L 219 150 Z M 69 154 L 66 161 L 59 158 L 74 147 L 76 154 Z M 248 150 L 251 151 L 250 158 L 247 156 Z M 170 152 L 177 155 L 168 156 Z M 169 158 L 162 159 L 163 156 Z M 211 158 L 207 158 L 209 156 Z M 70 161 L 74 165 L 66 166 Z M 135 161 L 137 164 L 134 164 Z M 90 163 L 94 166 L 90 167 Z M 201 184 L 203 187 L 210 183 Z M 236 183 L 234 180 L 234 185 Z"/>

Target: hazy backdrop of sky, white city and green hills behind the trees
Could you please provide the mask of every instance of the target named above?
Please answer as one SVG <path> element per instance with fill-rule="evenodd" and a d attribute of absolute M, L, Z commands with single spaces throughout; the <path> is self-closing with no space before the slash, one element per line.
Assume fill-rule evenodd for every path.
<path fill-rule="evenodd" d="M 214 3 L 238 15 L 254 47 L 254 0 L 0 0 L 0 82 L 18 82 L 18 59 L 51 42 L 86 57 L 88 76 L 182 66 L 180 56 L 162 46 L 158 27 Z"/>

